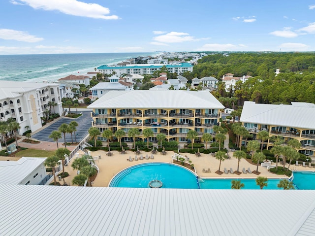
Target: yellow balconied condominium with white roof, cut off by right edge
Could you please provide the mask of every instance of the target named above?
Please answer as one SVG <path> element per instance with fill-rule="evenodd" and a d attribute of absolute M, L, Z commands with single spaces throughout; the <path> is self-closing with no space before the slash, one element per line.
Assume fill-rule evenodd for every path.
<path fill-rule="evenodd" d="M 291 138 L 301 143 L 300 153 L 315 156 L 315 104 L 291 102 L 292 105 L 256 104 L 245 101 L 240 122 L 256 138 L 261 130 L 269 136 L 282 136 L 285 143 Z M 245 144 L 245 140 L 243 140 Z M 266 148 L 273 147 L 273 139 L 264 142 Z M 285 145 L 285 144 L 284 144 Z"/>

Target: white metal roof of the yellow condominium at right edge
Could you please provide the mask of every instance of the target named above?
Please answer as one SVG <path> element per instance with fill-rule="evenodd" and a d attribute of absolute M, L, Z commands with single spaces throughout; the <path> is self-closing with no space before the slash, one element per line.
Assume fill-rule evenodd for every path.
<path fill-rule="evenodd" d="M 304 102 L 297 103 L 299 102 L 292 105 L 274 105 L 245 101 L 240 121 L 314 130 L 315 105 L 312 107 Z"/>

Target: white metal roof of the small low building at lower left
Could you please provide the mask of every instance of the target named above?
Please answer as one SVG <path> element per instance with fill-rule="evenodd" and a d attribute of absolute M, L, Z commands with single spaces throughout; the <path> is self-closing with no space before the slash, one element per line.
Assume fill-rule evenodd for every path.
<path fill-rule="evenodd" d="M 18 161 L 0 161 L 0 184 L 19 184 L 46 158 L 22 157 Z"/>

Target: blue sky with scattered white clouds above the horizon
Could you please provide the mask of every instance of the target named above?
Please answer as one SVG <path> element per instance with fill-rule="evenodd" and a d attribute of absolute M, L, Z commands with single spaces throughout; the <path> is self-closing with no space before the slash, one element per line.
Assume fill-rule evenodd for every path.
<path fill-rule="evenodd" d="M 0 54 L 315 51 L 315 0 L 1 0 Z"/>

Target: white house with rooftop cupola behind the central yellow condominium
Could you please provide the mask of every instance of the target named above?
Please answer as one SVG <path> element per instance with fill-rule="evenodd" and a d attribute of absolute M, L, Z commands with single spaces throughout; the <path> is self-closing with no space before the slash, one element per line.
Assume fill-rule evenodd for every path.
<path fill-rule="evenodd" d="M 116 75 L 109 77 L 109 82 L 101 82 L 90 89 L 92 91 L 92 100 L 102 97 L 109 91 L 133 90 L 133 84 L 130 82 L 120 81 Z"/>

